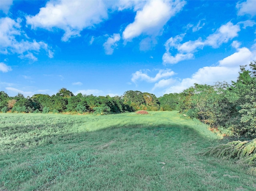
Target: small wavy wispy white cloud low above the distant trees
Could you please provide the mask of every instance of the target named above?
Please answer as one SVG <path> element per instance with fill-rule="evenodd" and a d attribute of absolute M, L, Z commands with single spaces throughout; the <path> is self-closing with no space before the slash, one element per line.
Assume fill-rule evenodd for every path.
<path fill-rule="evenodd" d="M 150 77 L 146 73 L 142 73 L 142 71 L 136 71 L 135 73 L 132 74 L 132 82 L 136 83 L 136 81 L 141 80 L 141 81 L 147 81 L 147 82 L 156 82 L 160 80 L 161 78 L 166 78 L 174 75 L 174 71 L 171 71 L 170 69 L 166 70 L 159 70 L 159 72 L 156 74 L 155 77 Z"/>

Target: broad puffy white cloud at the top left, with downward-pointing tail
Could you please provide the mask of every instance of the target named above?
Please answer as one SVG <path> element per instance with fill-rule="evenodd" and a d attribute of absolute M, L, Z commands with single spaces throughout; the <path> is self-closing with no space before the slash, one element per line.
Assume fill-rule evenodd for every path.
<path fill-rule="evenodd" d="M 32 28 L 60 28 L 65 31 L 62 41 L 80 36 L 85 28 L 92 28 L 108 18 L 104 1 L 60 0 L 47 2 L 36 16 L 27 16 L 27 24 Z"/>

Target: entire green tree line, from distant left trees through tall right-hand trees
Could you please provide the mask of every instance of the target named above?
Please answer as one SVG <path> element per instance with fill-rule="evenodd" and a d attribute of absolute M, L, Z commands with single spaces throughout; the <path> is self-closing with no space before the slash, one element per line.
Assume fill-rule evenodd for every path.
<path fill-rule="evenodd" d="M 22 94 L 9 97 L 0 92 L 1 112 L 78 112 L 109 114 L 136 110 L 170 111 L 197 118 L 212 127 L 235 136 L 256 137 L 256 61 L 240 66 L 239 76 L 231 84 L 194 84 L 182 93 L 157 98 L 151 93 L 126 91 L 122 96 L 74 95 L 62 88 L 56 95 Z"/>

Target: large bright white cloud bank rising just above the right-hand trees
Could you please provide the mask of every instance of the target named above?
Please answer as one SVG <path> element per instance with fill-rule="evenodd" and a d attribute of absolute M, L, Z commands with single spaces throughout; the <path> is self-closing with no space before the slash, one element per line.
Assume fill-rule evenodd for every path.
<path fill-rule="evenodd" d="M 238 42 L 235 42 L 236 44 Z M 237 47 L 237 46 L 236 46 Z M 249 64 L 256 59 L 256 51 L 250 51 L 246 47 L 237 48 L 232 55 L 220 60 L 218 66 L 203 67 L 198 69 L 190 78 L 183 79 L 165 90 L 165 93 L 179 93 L 194 83 L 213 84 L 216 81 L 235 81 L 240 71 L 240 65 Z"/>

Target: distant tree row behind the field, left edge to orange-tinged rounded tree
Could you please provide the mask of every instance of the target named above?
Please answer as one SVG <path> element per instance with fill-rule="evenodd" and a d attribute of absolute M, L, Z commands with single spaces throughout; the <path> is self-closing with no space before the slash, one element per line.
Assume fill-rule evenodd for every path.
<path fill-rule="evenodd" d="M 136 110 L 159 110 L 158 98 L 150 93 L 140 91 L 126 91 L 123 96 L 94 96 L 74 95 L 66 88 L 62 88 L 56 95 L 36 94 L 25 98 L 18 93 L 14 97 L 0 92 L 1 112 L 78 112 L 109 114 L 134 112 Z"/>

